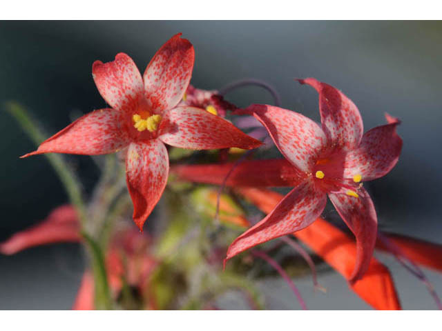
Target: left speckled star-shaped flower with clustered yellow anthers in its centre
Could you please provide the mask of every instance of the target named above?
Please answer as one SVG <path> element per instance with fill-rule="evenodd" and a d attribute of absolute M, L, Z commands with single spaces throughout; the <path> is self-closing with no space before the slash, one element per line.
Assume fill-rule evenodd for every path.
<path fill-rule="evenodd" d="M 140 230 L 166 186 L 169 157 L 164 143 L 197 150 L 251 149 L 261 144 L 221 117 L 177 106 L 189 85 L 195 57 L 192 44 L 180 35 L 157 51 L 144 77 L 124 53 L 112 62 L 95 61 L 93 79 L 112 108 L 84 115 L 23 156 L 108 154 L 127 147 L 127 186 Z"/>

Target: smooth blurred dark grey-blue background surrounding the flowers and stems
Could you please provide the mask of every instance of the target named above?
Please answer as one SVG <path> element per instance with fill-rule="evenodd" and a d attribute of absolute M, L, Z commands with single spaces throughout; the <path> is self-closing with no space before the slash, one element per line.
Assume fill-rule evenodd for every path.
<path fill-rule="evenodd" d="M 441 22 L 2 21 L 0 102 L 23 104 L 53 134 L 77 114 L 106 106 L 92 79 L 93 61 L 112 61 L 126 52 L 143 72 L 155 51 L 177 32 L 195 47 L 191 83 L 198 88 L 262 79 L 278 90 L 283 108 L 319 121 L 316 92 L 294 81 L 315 77 L 356 103 L 365 130 L 385 123 L 385 112 L 399 117 L 401 159 L 386 177 L 366 185 L 379 228 L 442 243 Z M 238 106 L 273 103 L 260 88 L 242 88 L 226 99 Z M 0 131 L 3 241 L 44 219 L 67 197 L 44 157 L 19 159 L 35 146 L 3 109 Z M 88 157 L 69 160 L 87 194 L 99 172 Z M 411 274 L 391 257 L 379 258 L 392 270 L 403 308 L 436 308 Z M 0 256 L 0 309 L 69 309 L 83 268 L 75 244 Z M 442 294 L 441 274 L 428 271 L 427 276 Z M 295 281 L 310 309 L 369 309 L 336 272 L 320 273 L 326 294 L 314 292 L 309 277 Z M 279 278 L 261 285 L 271 308 L 298 308 Z M 243 308 L 234 295 L 227 295 L 221 306 Z"/>

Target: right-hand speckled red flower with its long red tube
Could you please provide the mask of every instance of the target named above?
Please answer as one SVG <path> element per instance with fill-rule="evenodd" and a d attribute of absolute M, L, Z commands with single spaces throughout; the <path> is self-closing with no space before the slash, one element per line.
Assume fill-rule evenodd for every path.
<path fill-rule="evenodd" d="M 402 148 L 396 133 L 400 122 L 387 115 L 387 125 L 363 134 L 361 114 L 342 92 L 312 78 L 300 83 L 313 86 L 319 93 L 322 128 L 291 110 L 267 105 L 247 109 L 267 128 L 287 160 L 243 161 L 231 172 L 226 185 L 295 188 L 265 219 L 233 241 L 227 259 L 306 228 L 323 212 L 328 195 L 356 237 L 358 254 L 350 277 L 356 281 L 368 268 L 377 233 L 376 211 L 362 183 L 383 177 L 396 165 Z M 213 173 L 227 174 L 225 170 L 231 168 L 229 164 L 200 165 L 198 170 L 178 167 L 175 171 L 191 180 L 195 179 L 192 172 L 199 171 L 206 182 L 220 183 Z"/>

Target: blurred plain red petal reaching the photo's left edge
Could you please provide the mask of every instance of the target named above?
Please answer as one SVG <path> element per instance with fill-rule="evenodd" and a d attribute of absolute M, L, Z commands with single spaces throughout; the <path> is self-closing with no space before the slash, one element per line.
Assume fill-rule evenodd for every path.
<path fill-rule="evenodd" d="M 26 248 L 48 243 L 80 241 L 77 212 L 71 205 L 62 205 L 52 210 L 41 223 L 13 234 L 10 239 L 0 243 L 0 252 L 16 254 Z"/>

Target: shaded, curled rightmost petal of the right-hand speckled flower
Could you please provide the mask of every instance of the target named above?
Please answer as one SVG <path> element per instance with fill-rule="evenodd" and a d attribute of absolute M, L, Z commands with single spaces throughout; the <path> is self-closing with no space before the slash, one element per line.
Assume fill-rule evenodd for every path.
<path fill-rule="evenodd" d="M 345 156 L 344 177 L 361 174 L 363 181 L 383 177 L 398 162 L 402 150 L 402 139 L 396 133 L 401 123 L 388 115 L 389 124 L 377 126 L 365 132 L 361 145 Z"/>

